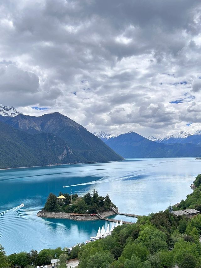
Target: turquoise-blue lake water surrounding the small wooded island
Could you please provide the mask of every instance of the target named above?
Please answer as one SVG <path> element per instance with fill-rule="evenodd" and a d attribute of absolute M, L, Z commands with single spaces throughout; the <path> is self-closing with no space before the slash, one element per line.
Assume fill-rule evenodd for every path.
<path fill-rule="evenodd" d="M 108 223 L 37 217 L 50 192 L 58 195 L 72 189 L 84 195 L 97 189 L 102 196 L 109 194 L 119 211 L 144 215 L 165 210 L 191 193 L 200 164 L 194 158 L 149 158 L 1 170 L 0 243 L 11 254 L 84 242 Z M 21 203 L 24 207 L 19 207 Z"/>

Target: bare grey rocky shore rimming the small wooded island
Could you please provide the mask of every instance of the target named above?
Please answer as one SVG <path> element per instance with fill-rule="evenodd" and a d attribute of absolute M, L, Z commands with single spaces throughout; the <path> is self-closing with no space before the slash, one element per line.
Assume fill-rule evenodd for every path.
<path fill-rule="evenodd" d="M 46 211 L 39 211 L 36 216 L 41 218 L 54 218 L 54 219 L 70 219 L 75 221 L 94 221 L 98 220 L 97 216 L 91 216 L 90 214 L 83 214 L 82 216 L 71 216 L 71 213 L 66 212 L 46 212 Z M 100 215 L 103 218 L 108 216 L 114 215 L 115 212 L 113 211 L 105 211 Z"/>

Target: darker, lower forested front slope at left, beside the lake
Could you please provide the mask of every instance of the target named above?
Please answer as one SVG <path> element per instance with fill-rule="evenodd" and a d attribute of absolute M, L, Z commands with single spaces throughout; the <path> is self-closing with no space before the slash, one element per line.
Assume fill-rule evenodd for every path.
<path fill-rule="evenodd" d="M 0 168 L 83 162 L 68 144 L 50 133 L 30 135 L 0 122 Z"/>

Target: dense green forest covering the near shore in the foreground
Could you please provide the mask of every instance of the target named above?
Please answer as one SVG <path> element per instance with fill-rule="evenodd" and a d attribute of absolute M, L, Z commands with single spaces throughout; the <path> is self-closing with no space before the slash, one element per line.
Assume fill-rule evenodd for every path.
<path fill-rule="evenodd" d="M 193 193 L 187 195 L 187 199 L 182 200 L 174 209 L 201 208 L 201 174 L 196 177 L 194 185 L 197 188 Z M 64 248 L 57 254 L 61 255 L 62 260 L 58 268 L 65 267 L 64 260 L 75 257 L 80 260 L 79 268 L 170 268 L 174 265 L 181 268 L 200 268 L 200 235 L 201 215 L 193 218 L 176 217 L 168 210 L 152 213 L 149 216 L 139 217 L 136 224 L 116 227 L 111 235 L 104 239 L 77 245 L 71 253 Z M 46 259 L 43 259 L 46 264 L 50 263 L 52 255 L 48 252 L 51 250 L 43 250 L 47 253 Z M 14 257 L 17 258 L 20 254 L 28 256 L 29 261 L 26 263 L 20 262 L 21 259 L 14 261 Z M 42 253 L 37 254 L 41 256 Z M 37 259 L 37 254 L 33 261 L 30 259 L 32 253 L 6 256 L 1 248 L 0 268 L 10 267 L 11 263 L 22 265 L 22 268 L 31 264 L 41 265 L 43 263 Z"/>

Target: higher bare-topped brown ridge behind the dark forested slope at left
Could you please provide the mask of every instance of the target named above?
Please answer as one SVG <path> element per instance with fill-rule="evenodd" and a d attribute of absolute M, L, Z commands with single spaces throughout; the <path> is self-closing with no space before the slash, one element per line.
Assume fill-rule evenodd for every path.
<path fill-rule="evenodd" d="M 102 140 L 59 112 L 39 117 L 19 114 L 5 123 L 29 134 L 54 134 L 65 141 L 83 163 L 123 160 Z"/>

